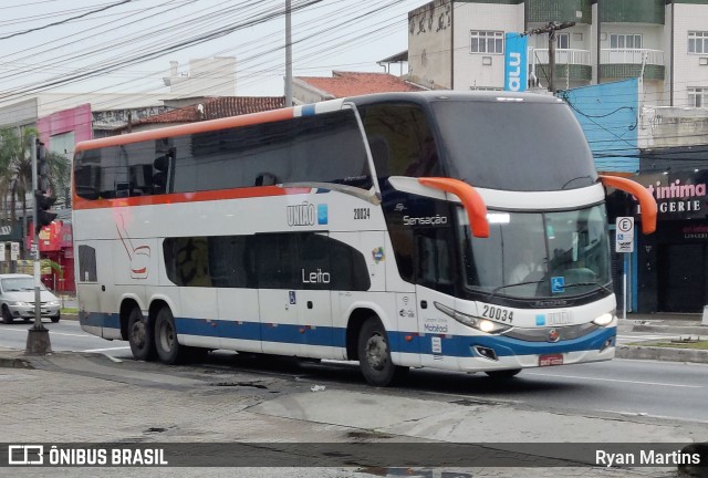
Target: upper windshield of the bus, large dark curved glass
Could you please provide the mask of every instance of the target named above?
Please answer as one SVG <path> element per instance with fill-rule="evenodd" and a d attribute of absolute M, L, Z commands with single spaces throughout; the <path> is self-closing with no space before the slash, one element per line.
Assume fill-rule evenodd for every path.
<path fill-rule="evenodd" d="M 586 187 L 597 179 L 583 132 L 563 103 L 431 103 L 451 177 L 517 191 Z"/>

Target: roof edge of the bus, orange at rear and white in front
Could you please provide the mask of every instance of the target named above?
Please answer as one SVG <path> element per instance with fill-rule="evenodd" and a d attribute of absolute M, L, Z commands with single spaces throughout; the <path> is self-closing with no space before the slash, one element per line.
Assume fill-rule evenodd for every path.
<path fill-rule="evenodd" d="M 177 126 L 167 126 L 163 128 L 143 131 L 138 133 L 127 133 L 117 136 L 108 136 L 100 139 L 90 139 L 76 144 L 75 152 L 97 149 L 102 147 L 118 146 L 124 144 L 137 143 L 142 141 L 159 139 L 179 135 L 205 133 L 230 127 L 249 126 L 261 123 L 272 123 L 285 121 L 299 116 L 309 116 L 313 114 L 327 113 L 341 110 L 346 103 L 355 105 L 367 105 L 374 103 L 388 102 L 413 102 L 413 103 L 430 103 L 436 101 L 471 101 L 471 102 L 503 102 L 503 101 L 523 101 L 528 103 L 562 103 L 555 96 L 537 94 L 537 93 L 511 93 L 496 91 L 476 91 L 476 92 L 456 92 L 447 90 L 433 90 L 426 92 L 402 92 L 402 93 L 375 93 L 362 96 L 352 96 L 347 98 L 329 100 L 320 103 L 306 104 L 302 106 L 292 106 L 281 110 L 271 110 L 267 112 L 252 113 L 240 116 L 230 116 L 219 119 L 209 119 L 197 123 L 189 123 Z"/>

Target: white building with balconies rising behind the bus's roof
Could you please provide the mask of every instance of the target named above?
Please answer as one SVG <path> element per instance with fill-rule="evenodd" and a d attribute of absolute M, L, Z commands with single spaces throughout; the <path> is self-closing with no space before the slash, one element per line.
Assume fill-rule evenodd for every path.
<path fill-rule="evenodd" d="M 504 33 L 558 30 L 554 89 L 641 77 L 642 102 L 708 105 L 708 0 L 434 0 L 408 13 L 409 79 L 452 90 L 502 90 Z M 549 35 L 529 37 L 549 86 Z"/>

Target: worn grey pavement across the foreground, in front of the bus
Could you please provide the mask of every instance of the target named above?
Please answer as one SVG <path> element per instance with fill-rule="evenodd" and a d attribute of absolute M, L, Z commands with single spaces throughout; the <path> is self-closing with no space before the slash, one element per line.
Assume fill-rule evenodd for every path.
<path fill-rule="evenodd" d="M 244 371 L 168 367 L 159 363 L 115 363 L 96 354 L 58 353 L 21 357 L 33 368 L 0 368 L 0 423 L 3 436 L 18 443 L 454 443 L 485 441 L 488 453 L 504 444 L 686 444 L 705 439 L 705 424 L 642 416 L 570 415 L 519 406 L 513 401 L 461 403 L 458 396 L 410 396 L 405 391 L 376 391 L 329 384 L 313 393 L 308 378 L 288 380 Z M 41 411 L 41 414 L 28 411 Z M 494 445 L 496 444 L 496 445 Z M 649 445 L 647 445 L 649 446 Z M 565 461 L 553 447 L 525 457 L 519 468 L 442 467 L 436 475 L 405 468 L 371 468 L 356 460 L 347 467 L 306 468 L 317 450 L 300 457 L 304 468 L 171 468 L 171 476 L 250 477 L 647 477 L 675 476 L 675 467 L 591 467 Z M 279 458 L 275 456 L 274 458 Z M 535 465 L 534 465 L 535 464 Z M 277 463 L 275 463 L 277 466 Z M 459 465 L 457 465 L 459 466 Z M 19 470 L 18 470 L 19 471 Z M 22 476 L 46 476 L 46 469 L 22 469 Z M 103 470 L 101 470 L 103 471 Z M 125 475 L 166 476 L 157 468 L 123 469 Z M 127 474 L 126 474 L 127 471 Z M 293 472 L 294 471 L 294 472 Z M 445 471 L 445 474 L 442 474 Z M 455 475 L 454 475 L 455 472 Z M 62 476 L 96 476 L 96 469 L 70 468 Z M 59 474 L 58 474 L 59 475 Z M 103 472 L 102 472 L 103 475 Z M 124 476 L 125 476 L 124 475 Z M 13 476 L 20 476 L 19 472 Z M 107 476 L 121 476 L 118 474 Z"/>

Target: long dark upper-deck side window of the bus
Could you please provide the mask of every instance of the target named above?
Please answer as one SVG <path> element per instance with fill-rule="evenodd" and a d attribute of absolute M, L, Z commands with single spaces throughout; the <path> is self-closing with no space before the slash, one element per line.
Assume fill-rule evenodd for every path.
<path fill-rule="evenodd" d="M 74 168 L 86 199 L 288 183 L 371 187 L 351 110 L 88 149 Z"/>

